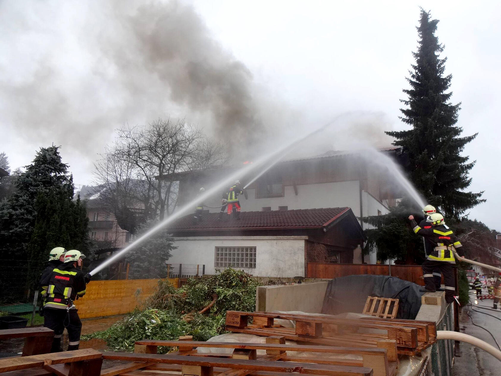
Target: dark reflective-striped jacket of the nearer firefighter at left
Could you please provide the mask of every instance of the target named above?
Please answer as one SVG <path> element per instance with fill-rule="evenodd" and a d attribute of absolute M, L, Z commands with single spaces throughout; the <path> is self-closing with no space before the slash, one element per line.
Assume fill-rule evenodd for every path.
<path fill-rule="evenodd" d="M 45 308 L 66 309 L 77 296 L 85 294 L 84 273 L 73 262 L 61 264 L 40 281 Z M 70 300 L 71 299 L 71 300 Z"/>

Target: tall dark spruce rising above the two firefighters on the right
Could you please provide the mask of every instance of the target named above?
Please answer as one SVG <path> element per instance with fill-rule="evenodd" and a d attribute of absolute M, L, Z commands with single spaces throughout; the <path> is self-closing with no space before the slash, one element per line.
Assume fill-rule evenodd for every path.
<path fill-rule="evenodd" d="M 407 78 L 411 88 L 404 89 L 407 99 L 400 109 L 400 119 L 412 126 L 403 131 L 385 132 L 395 137 L 396 146 L 402 146 L 409 156 L 410 178 L 428 199 L 449 218 L 458 219 L 467 209 L 485 201 L 483 192 L 464 192 L 471 183 L 468 171 L 475 161 L 468 162 L 462 156 L 464 146 L 476 137 L 460 137 L 462 128 L 456 126 L 460 103 L 449 102 L 452 75 L 445 76 L 446 58 L 439 55 L 444 47 L 435 36 L 438 20 L 431 20 L 430 13 L 421 9 L 417 32 L 416 63 Z"/>

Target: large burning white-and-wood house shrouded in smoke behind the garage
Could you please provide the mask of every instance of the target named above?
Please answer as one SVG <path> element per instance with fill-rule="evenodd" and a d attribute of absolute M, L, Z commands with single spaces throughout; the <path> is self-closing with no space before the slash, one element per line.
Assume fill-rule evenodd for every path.
<path fill-rule="evenodd" d="M 401 148 L 381 150 L 397 164 L 405 162 Z M 362 228 L 369 226 L 360 217 L 388 213 L 402 193 L 396 190 L 394 176 L 384 163 L 371 163 L 355 152 L 329 152 L 310 158 L 298 158 L 277 163 L 246 189 L 240 198 L 242 212 L 287 211 L 297 209 L 348 207 L 359 218 Z M 383 166 L 381 166 L 383 165 Z M 160 179 L 179 181 L 178 207 L 192 200 L 201 186 L 210 188 L 236 167 L 186 171 L 164 175 Z M 240 176 L 243 185 L 260 171 Z M 221 194 L 224 190 L 221 190 Z M 221 205 L 220 195 L 206 200 L 208 207 Z M 219 209 L 208 208 L 210 213 Z M 354 263 L 376 263 L 376 254 L 363 258 L 355 252 Z"/>

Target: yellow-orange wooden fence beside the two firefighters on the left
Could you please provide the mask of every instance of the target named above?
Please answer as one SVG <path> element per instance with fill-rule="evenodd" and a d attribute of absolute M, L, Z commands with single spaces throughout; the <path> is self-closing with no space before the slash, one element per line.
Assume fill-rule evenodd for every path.
<path fill-rule="evenodd" d="M 179 287 L 179 278 L 169 278 Z M 155 279 L 117 279 L 91 281 L 83 298 L 75 300 L 80 318 L 111 316 L 129 313 L 138 303 L 153 294 L 158 284 Z"/>

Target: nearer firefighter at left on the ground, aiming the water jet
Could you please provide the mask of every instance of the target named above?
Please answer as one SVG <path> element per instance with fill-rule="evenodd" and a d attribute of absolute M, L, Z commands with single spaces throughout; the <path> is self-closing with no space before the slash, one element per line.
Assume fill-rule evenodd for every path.
<path fill-rule="evenodd" d="M 54 330 L 51 352 L 61 351 L 61 336 L 65 327 L 69 337 L 68 351 L 78 350 L 82 322 L 73 301 L 85 294 L 86 282 L 90 281 L 90 275 L 84 276 L 77 268 L 82 266 L 84 258 L 80 251 L 67 251 L 65 262 L 40 281 L 45 297 L 44 326 Z"/>

